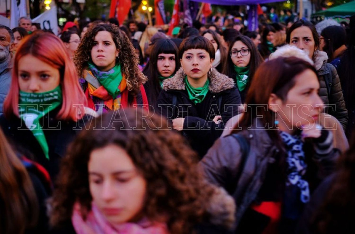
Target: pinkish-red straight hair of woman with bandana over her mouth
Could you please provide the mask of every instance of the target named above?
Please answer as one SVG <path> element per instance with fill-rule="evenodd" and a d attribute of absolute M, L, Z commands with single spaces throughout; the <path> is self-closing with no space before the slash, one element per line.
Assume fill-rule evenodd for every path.
<path fill-rule="evenodd" d="M 63 94 L 62 107 L 56 116 L 60 120 L 77 121 L 85 113 L 84 107 L 87 100 L 79 85 L 78 75 L 73 62 L 63 42 L 51 33 L 36 33 L 24 38 L 15 54 L 13 62 L 12 80 L 9 94 L 4 101 L 4 114 L 10 119 L 14 114 L 18 116 L 18 61 L 26 55 L 32 55 L 37 59 L 59 70 L 60 85 Z M 78 107 L 73 108 L 73 105 Z"/>

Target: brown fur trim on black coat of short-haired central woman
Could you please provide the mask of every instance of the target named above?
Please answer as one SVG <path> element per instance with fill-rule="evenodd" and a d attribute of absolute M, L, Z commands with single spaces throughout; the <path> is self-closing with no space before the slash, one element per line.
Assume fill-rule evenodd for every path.
<path fill-rule="evenodd" d="M 208 74 L 209 91 L 219 93 L 234 87 L 234 80 L 226 75 L 220 74 L 216 69 L 212 69 L 211 74 Z M 182 67 L 176 72 L 175 76 L 170 79 L 165 79 L 163 89 L 168 90 L 185 90 L 185 72 Z"/>

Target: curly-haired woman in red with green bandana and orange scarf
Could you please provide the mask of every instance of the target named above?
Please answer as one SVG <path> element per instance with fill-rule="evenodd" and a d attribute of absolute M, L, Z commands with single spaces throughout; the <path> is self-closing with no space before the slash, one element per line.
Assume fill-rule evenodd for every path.
<path fill-rule="evenodd" d="M 98 114 L 132 105 L 148 105 L 139 59 L 130 39 L 112 24 L 85 34 L 74 62 L 88 105 Z"/>

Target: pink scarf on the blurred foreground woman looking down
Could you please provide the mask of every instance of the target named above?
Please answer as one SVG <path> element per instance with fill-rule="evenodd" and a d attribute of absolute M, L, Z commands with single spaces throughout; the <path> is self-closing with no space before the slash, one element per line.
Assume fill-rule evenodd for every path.
<path fill-rule="evenodd" d="M 87 219 L 83 220 L 80 204 L 75 203 L 71 221 L 77 234 L 168 234 L 164 223 L 142 220 L 138 223 L 110 224 L 94 203 Z"/>

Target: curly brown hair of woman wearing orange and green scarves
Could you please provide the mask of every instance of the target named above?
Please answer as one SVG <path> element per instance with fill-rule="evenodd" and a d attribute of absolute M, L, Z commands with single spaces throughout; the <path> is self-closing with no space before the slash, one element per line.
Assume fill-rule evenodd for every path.
<path fill-rule="evenodd" d="M 88 66 L 88 61 L 91 61 L 91 49 L 94 45 L 94 39 L 100 31 L 111 33 L 116 49 L 119 50 L 118 62 L 122 65 L 121 70 L 126 75 L 127 88 L 132 91 L 132 94 L 137 94 L 141 85 L 146 82 L 147 77 L 143 75 L 138 67 L 139 58 L 130 39 L 116 25 L 96 25 L 93 28 L 89 28 L 88 32 L 85 33 L 74 55 L 74 63 L 79 76 L 83 76 L 83 72 Z"/>

